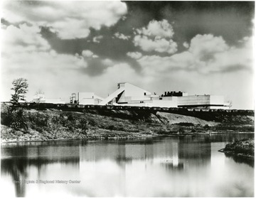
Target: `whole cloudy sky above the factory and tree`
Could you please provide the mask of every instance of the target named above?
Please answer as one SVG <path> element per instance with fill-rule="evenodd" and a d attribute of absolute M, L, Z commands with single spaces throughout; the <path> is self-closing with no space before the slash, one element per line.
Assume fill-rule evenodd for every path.
<path fill-rule="evenodd" d="M 107 97 L 118 82 L 161 95 L 224 95 L 254 107 L 254 1 L 4 1 L 1 101 L 28 79 L 68 102 L 72 92 Z"/>

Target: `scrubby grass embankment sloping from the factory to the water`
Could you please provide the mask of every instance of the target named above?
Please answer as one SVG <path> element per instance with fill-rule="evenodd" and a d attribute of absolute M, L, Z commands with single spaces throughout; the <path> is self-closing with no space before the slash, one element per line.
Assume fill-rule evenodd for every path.
<path fill-rule="evenodd" d="M 252 132 L 254 117 L 225 113 L 191 117 L 151 110 L 64 112 L 56 109 L 13 109 L 1 104 L 1 141 L 121 139 L 212 131 Z"/>

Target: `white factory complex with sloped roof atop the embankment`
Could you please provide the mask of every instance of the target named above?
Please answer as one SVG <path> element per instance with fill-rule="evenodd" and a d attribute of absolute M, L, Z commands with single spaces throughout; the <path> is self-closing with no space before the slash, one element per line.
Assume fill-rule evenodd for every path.
<path fill-rule="evenodd" d="M 93 92 L 79 92 L 70 97 L 71 103 L 99 104 L 136 107 L 186 107 L 200 109 L 229 109 L 228 103 L 220 95 L 188 95 L 186 92 L 165 92 L 164 95 L 151 94 L 148 90 L 128 82 L 117 84 L 117 90 L 103 99 Z"/>

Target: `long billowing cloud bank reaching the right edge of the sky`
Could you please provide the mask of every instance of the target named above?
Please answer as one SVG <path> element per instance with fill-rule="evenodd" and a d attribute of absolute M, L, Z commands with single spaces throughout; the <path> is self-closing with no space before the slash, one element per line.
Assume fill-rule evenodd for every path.
<path fill-rule="evenodd" d="M 188 50 L 171 56 L 143 56 L 139 60 L 145 74 L 171 70 L 193 70 L 202 73 L 252 69 L 252 38 L 244 38 L 240 48 L 228 46 L 223 38 L 197 35 Z"/>

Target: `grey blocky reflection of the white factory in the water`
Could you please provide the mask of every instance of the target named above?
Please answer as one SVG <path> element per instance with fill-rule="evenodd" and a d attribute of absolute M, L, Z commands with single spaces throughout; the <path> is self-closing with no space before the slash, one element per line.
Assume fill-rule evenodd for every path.
<path fill-rule="evenodd" d="M 172 139 L 145 141 L 98 141 L 80 145 L 80 161 L 99 161 L 110 159 L 122 162 L 145 160 L 145 163 L 161 163 L 173 167 L 181 165 L 206 164 L 210 161 L 210 141 L 180 136 Z M 196 145 L 196 147 L 195 147 Z M 200 161 L 198 161 L 200 160 Z"/>

